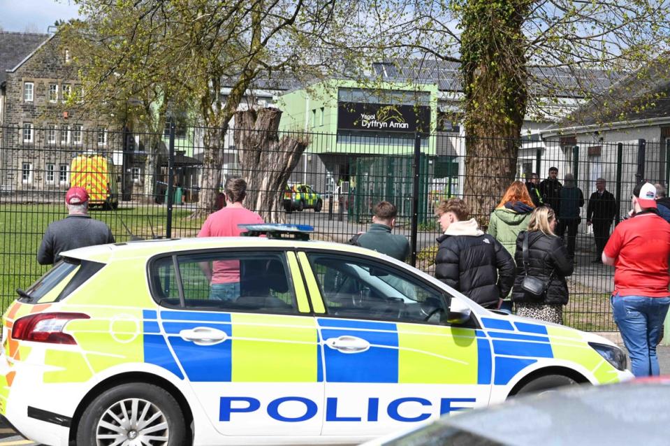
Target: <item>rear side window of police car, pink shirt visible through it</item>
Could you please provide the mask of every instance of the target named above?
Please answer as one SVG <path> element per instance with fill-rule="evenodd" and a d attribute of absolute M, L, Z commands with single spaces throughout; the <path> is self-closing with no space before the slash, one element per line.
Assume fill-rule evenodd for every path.
<path fill-rule="evenodd" d="M 283 253 L 208 252 L 161 257 L 152 263 L 151 272 L 154 296 L 166 305 L 298 312 Z"/>

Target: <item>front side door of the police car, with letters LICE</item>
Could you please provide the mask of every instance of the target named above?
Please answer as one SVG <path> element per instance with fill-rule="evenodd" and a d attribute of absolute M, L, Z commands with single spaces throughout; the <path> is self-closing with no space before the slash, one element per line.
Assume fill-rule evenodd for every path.
<path fill-rule="evenodd" d="M 319 252 L 306 259 L 325 310 L 316 317 L 323 435 L 381 435 L 488 405 L 488 343 L 479 343 L 474 326 L 442 322 L 441 290 L 377 259 Z"/>

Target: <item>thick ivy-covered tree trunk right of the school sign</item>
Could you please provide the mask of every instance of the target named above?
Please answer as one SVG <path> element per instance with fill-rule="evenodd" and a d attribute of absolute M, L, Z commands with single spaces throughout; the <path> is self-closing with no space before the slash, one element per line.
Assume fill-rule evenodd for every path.
<path fill-rule="evenodd" d="M 522 25 L 529 5 L 527 0 L 472 0 L 463 13 L 464 199 L 482 226 L 516 174 L 527 106 Z"/>

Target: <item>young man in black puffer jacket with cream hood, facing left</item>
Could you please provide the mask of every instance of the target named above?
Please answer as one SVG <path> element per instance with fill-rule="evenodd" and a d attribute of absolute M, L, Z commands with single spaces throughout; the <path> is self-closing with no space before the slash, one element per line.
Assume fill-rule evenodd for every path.
<path fill-rule="evenodd" d="M 435 278 L 485 308 L 495 309 L 514 284 L 514 259 L 483 233 L 461 199 L 442 201 L 437 217 L 444 235 L 437 239 Z"/>

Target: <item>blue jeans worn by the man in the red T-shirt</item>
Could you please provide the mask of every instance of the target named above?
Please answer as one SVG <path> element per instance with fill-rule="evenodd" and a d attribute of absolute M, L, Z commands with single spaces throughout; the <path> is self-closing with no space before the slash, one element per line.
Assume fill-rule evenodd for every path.
<path fill-rule="evenodd" d="M 656 344 L 670 297 L 612 296 L 612 314 L 626 345 L 635 376 L 660 374 Z"/>

